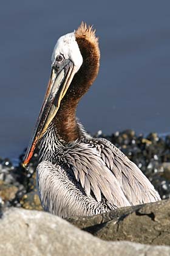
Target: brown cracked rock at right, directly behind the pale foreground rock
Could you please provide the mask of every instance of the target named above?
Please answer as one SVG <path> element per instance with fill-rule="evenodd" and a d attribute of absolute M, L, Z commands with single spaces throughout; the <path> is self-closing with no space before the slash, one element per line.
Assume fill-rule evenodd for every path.
<path fill-rule="evenodd" d="M 170 200 L 123 207 L 67 221 L 103 240 L 170 245 Z"/>

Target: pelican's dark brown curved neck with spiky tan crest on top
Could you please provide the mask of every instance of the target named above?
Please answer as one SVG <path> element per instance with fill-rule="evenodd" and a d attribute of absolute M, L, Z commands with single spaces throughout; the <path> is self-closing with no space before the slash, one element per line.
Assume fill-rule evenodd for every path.
<path fill-rule="evenodd" d="M 80 138 L 76 121 L 77 105 L 97 77 L 100 65 L 100 49 L 95 30 L 81 23 L 75 31 L 75 37 L 83 57 L 83 64 L 75 74 L 54 119 L 58 135 L 66 142 Z"/>

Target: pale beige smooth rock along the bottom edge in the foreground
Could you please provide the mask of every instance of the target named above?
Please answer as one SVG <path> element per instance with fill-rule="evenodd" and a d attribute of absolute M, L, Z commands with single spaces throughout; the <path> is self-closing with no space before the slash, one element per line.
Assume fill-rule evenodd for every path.
<path fill-rule="evenodd" d="M 103 241 L 57 216 L 18 208 L 5 211 L 0 219 L 0 241 L 0 254 L 3 256 L 168 256 L 170 254 L 168 246 Z"/>

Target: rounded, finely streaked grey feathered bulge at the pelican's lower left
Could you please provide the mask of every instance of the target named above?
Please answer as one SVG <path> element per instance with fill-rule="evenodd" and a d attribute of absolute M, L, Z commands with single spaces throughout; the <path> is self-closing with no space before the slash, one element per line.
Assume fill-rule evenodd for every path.
<path fill-rule="evenodd" d="M 41 204 L 47 212 L 62 218 L 101 213 L 98 203 L 75 185 L 67 168 L 42 161 L 36 169 L 36 179 Z"/>

